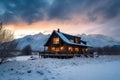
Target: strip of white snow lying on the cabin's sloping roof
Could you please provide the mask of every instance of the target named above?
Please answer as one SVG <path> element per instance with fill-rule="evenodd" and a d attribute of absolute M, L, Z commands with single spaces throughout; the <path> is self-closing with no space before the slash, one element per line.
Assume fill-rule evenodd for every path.
<path fill-rule="evenodd" d="M 85 45 L 85 44 L 82 44 L 82 43 L 71 42 L 67 37 L 64 36 L 64 34 L 62 32 L 55 31 L 55 33 L 67 44 L 88 47 L 88 45 Z"/>

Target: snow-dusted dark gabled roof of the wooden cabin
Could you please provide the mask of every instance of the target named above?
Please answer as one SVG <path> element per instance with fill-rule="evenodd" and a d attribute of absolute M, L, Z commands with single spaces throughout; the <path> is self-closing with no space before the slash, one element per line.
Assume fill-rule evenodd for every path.
<path fill-rule="evenodd" d="M 74 42 L 71 42 L 70 40 L 74 40 L 74 38 L 75 37 L 77 37 L 77 38 L 79 38 L 79 39 L 81 39 L 81 37 L 78 37 L 78 36 L 73 36 L 73 35 L 69 35 L 69 34 L 66 34 L 66 33 L 63 33 L 63 32 L 58 32 L 58 31 L 53 31 L 53 33 L 55 33 L 56 35 L 58 35 L 59 36 L 59 38 L 63 41 L 63 42 L 65 42 L 65 43 L 67 43 L 67 44 L 70 44 L 70 45 L 76 45 L 76 46 L 84 46 L 84 47 L 88 47 L 88 45 L 86 45 L 86 41 L 83 41 L 83 40 L 80 40 L 80 42 L 81 43 L 74 43 Z M 53 34 L 52 33 L 52 34 Z M 52 34 L 51 34 L 51 36 L 52 36 Z M 51 37 L 50 36 L 50 37 Z M 50 38 L 49 38 L 50 39 Z M 49 39 L 48 39 L 48 41 L 49 41 Z M 48 41 L 46 42 L 46 44 L 48 43 Z M 45 45 L 46 45 L 45 44 Z"/>

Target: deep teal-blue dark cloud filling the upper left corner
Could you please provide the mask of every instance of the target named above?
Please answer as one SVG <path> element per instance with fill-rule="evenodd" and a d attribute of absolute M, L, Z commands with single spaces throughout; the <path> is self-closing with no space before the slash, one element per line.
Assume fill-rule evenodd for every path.
<path fill-rule="evenodd" d="M 44 10 L 48 3 L 45 0 L 0 0 L 4 7 L 1 18 L 5 23 L 14 23 L 21 18 L 27 23 L 32 23 L 44 18 Z"/>

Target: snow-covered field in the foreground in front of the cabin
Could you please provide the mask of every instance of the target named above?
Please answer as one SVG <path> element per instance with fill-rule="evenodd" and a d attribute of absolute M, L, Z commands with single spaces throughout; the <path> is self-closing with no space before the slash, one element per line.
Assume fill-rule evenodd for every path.
<path fill-rule="evenodd" d="M 35 60 L 17 57 L 0 65 L 0 80 L 120 80 L 120 56 Z"/>

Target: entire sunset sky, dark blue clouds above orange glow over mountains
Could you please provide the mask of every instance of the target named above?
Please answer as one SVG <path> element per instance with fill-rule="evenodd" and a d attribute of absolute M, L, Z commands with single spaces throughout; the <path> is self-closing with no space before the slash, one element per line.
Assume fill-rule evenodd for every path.
<path fill-rule="evenodd" d="M 0 0 L 0 20 L 16 38 L 60 28 L 120 40 L 120 0 Z"/>

